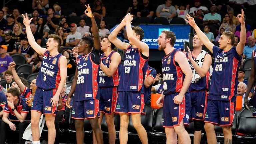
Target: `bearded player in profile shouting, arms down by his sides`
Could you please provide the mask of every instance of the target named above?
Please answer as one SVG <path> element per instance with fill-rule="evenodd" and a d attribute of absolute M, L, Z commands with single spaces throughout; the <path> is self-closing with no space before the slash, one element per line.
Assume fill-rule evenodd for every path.
<path fill-rule="evenodd" d="M 157 41 L 158 49 L 165 52 L 162 60 L 164 92 L 157 105 L 163 107 L 166 143 L 177 143 L 176 133 L 181 143 L 191 143 L 184 125 L 189 126 L 190 95 L 187 90 L 193 77 L 192 71 L 186 55 L 173 47 L 176 37 L 172 31 L 162 31 Z"/>

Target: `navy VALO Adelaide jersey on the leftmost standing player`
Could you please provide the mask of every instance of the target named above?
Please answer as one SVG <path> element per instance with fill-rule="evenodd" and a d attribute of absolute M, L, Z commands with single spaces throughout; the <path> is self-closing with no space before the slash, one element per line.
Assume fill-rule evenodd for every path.
<path fill-rule="evenodd" d="M 58 89 L 60 83 L 60 57 L 62 54 L 50 56 L 46 50 L 43 54 L 43 61 L 37 76 L 36 85 L 42 89 Z"/>

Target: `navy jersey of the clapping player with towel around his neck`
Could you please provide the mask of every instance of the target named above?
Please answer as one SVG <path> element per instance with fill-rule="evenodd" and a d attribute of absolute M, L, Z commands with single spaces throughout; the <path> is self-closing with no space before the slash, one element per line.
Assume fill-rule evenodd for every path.
<path fill-rule="evenodd" d="M 191 53 L 192 53 L 193 51 L 191 51 Z M 202 52 L 202 51 L 201 51 Z M 206 53 L 205 54 L 205 56 L 206 55 L 208 55 L 208 53 Z M 186 52 L 186 57 L 187 57 L 187 59 L 188 59 L 188 52 Z M 195 60 L 195 62 L 196 63 L 198 63 L 197 62 L 197 60 L 196 60 L 196 57 L 194 57 L 194 55 L 193 55 L 193 53 L 192 53 L 192 58 Z M 202 59 L 202 62 L 203 62 L 203 60 L 204 60 L 204 58 Z M 193 67 L 193 65 L 192 65 L 192 63 L 191 63 L 191 61 L 190 60 L 188 60 L 188 63 L 190 64 L 190 67 L 191 67 L 191 69 L 192 69 L 192 71 L 195 71 L 195 69 L 194 69 L 194 67 Z M 197 73 L 196 71 L 195 71 L 195 73 Z M 209 71 L 206 73 L 206 76 L 205 77 L 203 77 L 203 78 L 201 78 L 201 79 L 199 79 L 198 81 L 195 81 L 195 82 L 191 82 L 191 84 L 190 84 L 190 86 L 189 86 L 189 88 L 188 88 L 188 90 L 189 91 L 201 91 L 201 90 L 208 90 L 208 80 L 210 79 L 210 73 L 209 73 Z"/>

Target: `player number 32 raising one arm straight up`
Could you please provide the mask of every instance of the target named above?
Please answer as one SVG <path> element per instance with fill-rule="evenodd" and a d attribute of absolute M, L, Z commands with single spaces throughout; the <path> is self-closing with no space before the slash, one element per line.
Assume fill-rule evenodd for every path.
<path fill-rule="evenodd" d="M 94 40 L 90 37 L 83 37 L 79 42 L 78 52 L 82 52 L 83 55 L 79 55 L 76 58 L 77 68 L 75 78 L 68 94 L 66 106 L 71 108 L 69 103 L 71 96 L 75 92 L 71 114 L 72 118 L 75 119 L 77 144 L 84 143 L 84 119 L 90 120 L 97 143 L 103 144 L 103 135 L 98 122 L 99 86 L 97 82 L 97 75 L 100 67 L 100 38 L 98 26 L 91 8 L 89 5 L 86 6 L 86 8 L 85 14 L 90 17 L 92 21 Z"/>

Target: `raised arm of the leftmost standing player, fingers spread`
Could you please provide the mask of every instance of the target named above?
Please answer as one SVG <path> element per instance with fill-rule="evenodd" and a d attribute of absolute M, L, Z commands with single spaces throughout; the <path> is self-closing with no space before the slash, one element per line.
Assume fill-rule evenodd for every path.
<path fill-rule="evenodd" d="M 33 18 L 31 18 L 30 20 L 28 19 L 28 15 L 26 13 L 26 17 L 22 14 L 23 16 L 23 24 L 26 27 L 26 33 L 27 33 L 27 37 L 28 37 L 28 42 L 31 45 L 31 47 L 40 55 L 43 55 L 46 48 L 42 48 L 40 45 L 38 45 L 35 41 L 35 38 L 31 32 L 30 29 L 30 22 Z"/>

